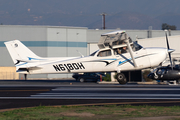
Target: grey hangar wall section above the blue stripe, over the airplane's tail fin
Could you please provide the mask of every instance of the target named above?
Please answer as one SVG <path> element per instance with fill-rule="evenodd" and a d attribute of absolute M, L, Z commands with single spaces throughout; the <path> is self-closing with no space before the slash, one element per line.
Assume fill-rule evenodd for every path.
<path fill-rule="evenodd" d="M 0 41 L 44 41 L 46 40 L 46 27 L 0 25 Z"/>

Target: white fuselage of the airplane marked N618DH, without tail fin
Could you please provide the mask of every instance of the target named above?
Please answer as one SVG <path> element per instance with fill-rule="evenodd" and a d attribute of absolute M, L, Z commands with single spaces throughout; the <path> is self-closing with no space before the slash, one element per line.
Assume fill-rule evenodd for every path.
<path fill-rule="evenodd" d="M 86 57 L 59 57 L 31 59 L 16 65 L 27 68 L 21 71 L 25 74 L 49 73 L 84 73 L 84 72 L 113 72 L 133 71 L 158 66 L 167 57 L 166 48 L 141 48 L 133 52 L 137 67 L 134 66 L 129 53 L 114 55 L 112 49 L 110 56 L 100 57 L 97 51 L 94 56 Z M 101 50 L 102 51 L 102 50 Z"/>

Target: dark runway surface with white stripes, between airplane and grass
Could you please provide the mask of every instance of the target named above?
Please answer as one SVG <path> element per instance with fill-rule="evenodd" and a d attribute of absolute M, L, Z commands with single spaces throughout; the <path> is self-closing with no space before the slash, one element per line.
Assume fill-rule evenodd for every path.
<path fill-rule="evenodd" d="M 180 85 L 102 85 L 74 80 L 0 81 L 0 109 L 80 104 L 180 105 Z"/>

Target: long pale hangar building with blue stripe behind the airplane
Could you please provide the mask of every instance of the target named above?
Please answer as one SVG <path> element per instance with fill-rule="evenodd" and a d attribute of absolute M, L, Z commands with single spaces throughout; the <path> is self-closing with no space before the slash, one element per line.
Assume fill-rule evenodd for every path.
<path fill-rule="evenodd" d="M 93 30 L 86 27 L 0 25 L 0 79 L 22 78 L 15 72 L 13 61 L 4 45 L 5 41 L 20 40 L 41 57 L 74 57 L 89 55 L 98 49 L 101 34 L 117 29 Z M 143 47 L 166 47 L 162 30 L 126 30 Z M 169 31 L 173 57 L 180 58 L 180 31 Z M 70 78 L 72 74 L 28 75 L 28 78 Z"/>

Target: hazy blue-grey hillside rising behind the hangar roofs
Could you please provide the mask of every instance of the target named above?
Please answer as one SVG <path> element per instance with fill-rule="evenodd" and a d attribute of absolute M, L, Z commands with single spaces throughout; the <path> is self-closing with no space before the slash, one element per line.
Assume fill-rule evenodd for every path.
<path fill-rule="evenodd" d="M 0 23 L 4 25 L 106 27 L 161 29 L 162 23 L 180 29 L 179 0 L 0 0 Z"/>

